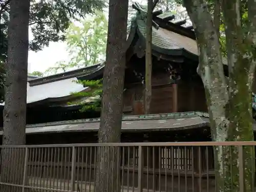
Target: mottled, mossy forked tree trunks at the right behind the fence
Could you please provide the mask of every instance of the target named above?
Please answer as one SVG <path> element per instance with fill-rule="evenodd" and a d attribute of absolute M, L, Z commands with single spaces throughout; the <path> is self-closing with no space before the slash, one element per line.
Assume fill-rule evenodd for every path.
<path fill-rule="evenodd" d="M 226 82 L 222 55 L 215 24 L 205 0 L 183 0 L 196 32 L 198 73 L 205 87 L 214 141 L 253 140 L 251 86 L 255 70 L 255 2 L 248 1 L 249 33 L 241 25 L 240 1 L 224 2 L 229 77 Z M 254 150 L 245 146 L 243 162 L 238 160 L 238 147 L 216 147 L 216 180 L 218 191 L 239 191 L 239 164 L 244 164 L 245 191 L 253 191 Z"/>

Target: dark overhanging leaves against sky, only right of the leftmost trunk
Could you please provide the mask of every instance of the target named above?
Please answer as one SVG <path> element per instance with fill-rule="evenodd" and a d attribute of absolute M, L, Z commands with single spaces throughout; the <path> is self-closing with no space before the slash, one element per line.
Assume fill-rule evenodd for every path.
<path fill-rule="evenodd" d="M 103 7 L 104 1 L 101 0 L 33 0 L 30 25 L 34 38 L 30 42 L 30 49 L 38 51 L 48 46 L 50 41 L 64 40 L 72 20 Z"/>

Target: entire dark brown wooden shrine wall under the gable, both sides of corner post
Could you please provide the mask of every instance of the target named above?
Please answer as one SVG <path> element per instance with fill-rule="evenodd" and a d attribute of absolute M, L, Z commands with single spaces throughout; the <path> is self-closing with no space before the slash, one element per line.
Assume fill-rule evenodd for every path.
<path fill-rule="evenodd" d="M 124 92 L 124 114 L 142 115 L 144 86 L 141 83 L 129 84 Z M 151 114 L 188 111 L 207 112 L 207 104 L 201 80 L 179 80 L 172 84 L 166 73 L 152 77 Z"/>

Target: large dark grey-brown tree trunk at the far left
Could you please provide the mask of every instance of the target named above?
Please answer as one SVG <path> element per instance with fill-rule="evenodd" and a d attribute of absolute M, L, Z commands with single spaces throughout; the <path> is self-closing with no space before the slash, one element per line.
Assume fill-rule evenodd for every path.
<path fill-rule="evenodd" d="M 26 143 L 29 7 L 29 0 L 10 1 L 3 145 Z M 25 150 L 5 149 L 1 155 L 2 182 L 22 184 Z M 2 187 L 6 192 L 21 191 L 18 187 Z"/>

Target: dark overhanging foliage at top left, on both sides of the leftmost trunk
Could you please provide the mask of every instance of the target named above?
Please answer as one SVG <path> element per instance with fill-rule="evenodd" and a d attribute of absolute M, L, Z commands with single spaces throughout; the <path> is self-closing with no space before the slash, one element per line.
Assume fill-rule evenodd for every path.
<path fill-rule="evenodd" d="M 0 0 L 0 100 L 3 100 L 7 58 L 7 29 L 9 22 L 8 0 Z M 4 7 L 4 9 L 3 9 Z M 50 41 L 65 40 L 65 33 L 72 21 L 86 14 L 102 10 L 105 1 L 101 0 L 31 0 L 30 28 L 33 39 L 30 50 L 39 51 L 49 46 Z"/>

